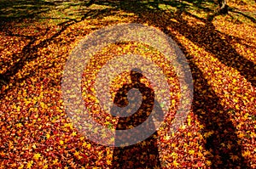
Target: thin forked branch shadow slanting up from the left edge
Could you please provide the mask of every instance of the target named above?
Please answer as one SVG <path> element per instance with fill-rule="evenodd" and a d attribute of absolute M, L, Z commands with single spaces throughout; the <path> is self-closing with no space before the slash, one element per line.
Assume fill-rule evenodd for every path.
<path fill-rule="evenodd" d="M 38 51 L 40 49 L 47 48 L 50 42 L 59 43 L 60 40 L 57 40 L 57 37 L 59 37 L 62 32 L 67 30 L 69 26 L 86 20 L 88 17 L 111 15 L 110 13 L 108 13 L 108 11 L 109 9 L 93 9 L 86 11 L 83 14 L 84 16 L 80 20 L 66 19 L 67 21 L 63 21 L 60 24 L 58 24 L 61 28 L 58 31 L 56 31 L 51 37 L 46 38 L 38 43 L 37 41 L 40 37 L 44 37 L 45 35 L 49 34 L 50 31 L 52 31 L 50 28 L 46 28 L 45 30 L 40 31 L 40 34 L 38 36 L 26 36 L 19 33 L 15 33 L 14 31 L 10 31 L 8 28 L 4 28 L 2 32 L 5 36 L 22 37 L 26 40 L 29 40 L 29 42 L 26 44 L 25 47 L 22 48 L 21 53 L 12 54 L 10 56 L 11 60 L 9 62 L 3 63 L 4 65 L 7 65 L 9 69 L 5 70 L 2 74 L 0 74 L 0 90 L 3 86 L 9 85 L 10 81 L 13 81 L 12 79 L 15 76 L 15 74 L 22 70 L 26 63 L 31 62 L 32 60 L 35 60 L 40 56 L 40 54 L 38 54 Z M 55 20 L 55 18 L 50 18 L 50 20 Z M 2 90 L 0 93 L 0 99 L 2 99 L 11 88 L 15 87 L 15 84 L 19 84 L 20 82 L 26 80 L 26 78 L 32 76 L 33 73 L 34 70 L 30 70 L 30 72 L 27 73 L 26 76 L 23 76 L 18 81 L 15 81 L 12 87 Z"/>

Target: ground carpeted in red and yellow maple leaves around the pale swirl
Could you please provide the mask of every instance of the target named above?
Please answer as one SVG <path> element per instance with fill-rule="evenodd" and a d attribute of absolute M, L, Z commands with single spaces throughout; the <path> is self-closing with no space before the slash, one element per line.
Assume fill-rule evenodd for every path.
<path fill-rule="evenodd" d="M 216 14 L 212 1 L 86 3 L 1 1 L 1 168 L 119 168 L 120 156 L 128 159 L 126 168 L 138 162 L 145 168 L 155 158 L 162 168 L 256 168 L 256 3 L 229 1 L 227 15 Z M 170 133 L 172 116 L 166 118 L 154 137 L 158 154 L 149 159 L 142 154 L 129 161 L 129 154 L 88 140 L 73 127 L 61 98 L 61 76 L 72 49 L 91 32 L 119 23 L 164 31 L 192 71 L 194 100 L 187 121 Z M 105 127 L 115 127 L 117 120 L 99 110 L 92 88 L 96 73 L 108 59 L 128 53 L 173 73 L 158 51 L 143 44 L 112 44 L 93 56 L 84 69 L 82 90 L 91 92 L 84 92 L 84 103 Z M 175 110 L 177 76 L 170 78 Z M 127 73 L 117 77 L 113 91 L 129 81 Z M 138 146 L 153 149 L 147 140 Z"/>

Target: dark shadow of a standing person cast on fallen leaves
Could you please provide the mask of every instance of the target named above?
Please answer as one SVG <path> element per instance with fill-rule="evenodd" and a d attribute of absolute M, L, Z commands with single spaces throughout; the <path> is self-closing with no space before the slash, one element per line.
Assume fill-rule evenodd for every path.
<path fill-rule="evenodd" d="M 131 70 L 131 84 L 119 88 L 113 100 L 113 104 L 117 106 L 113 105 L 111 114 L 119 115 L 116 130 L 127 131 L 139 125 L 144 127 L 131 131 L 131 135 L 127 135 L 127 132 L 116 132 L 111 168 L 160 168 L 158 136 L 154 122 L 163 121 L 164 115 L 160 104 L 154 99 L 154 90 L 140 82 L 142 77 L 141 70 Z M 141 138 L 145 138 L 144 141 Z M 131 144 L 135 140 L 139 142 Z"/>

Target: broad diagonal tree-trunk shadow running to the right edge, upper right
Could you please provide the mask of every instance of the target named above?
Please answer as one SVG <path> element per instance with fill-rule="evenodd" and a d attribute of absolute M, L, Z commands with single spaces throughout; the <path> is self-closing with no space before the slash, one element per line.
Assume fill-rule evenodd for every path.
<path fill-rule="evenodd" d="M 158 3 L 158 1 L 155 1 L 155 3 Z M 166 1 L 162 1 L 162 3 L 166 3 Z M 172 3 L 167 1 L 166 4 Z M 224 35 L 224 33 L 215 29 L 215 26 L 212 24 L 212 22 L 203 18 L 199 18 L 195 16 L 195 14 L 190 14 L 188 11 L 183 9 L 178 9 L 176 13 L 170 12 L 166 14 L 166 11 L 164 10 L 155 11 L 147 8 L 147 5 L 145 5 L 144 3 L 138 3 L 137 6 L 140 6 L 140 8 L 144 8 L 144 10 L 133 11 L 129 7 L 126 7 L 124 9 L 128 12 L 134 12 L 135 14 L 138 14 L 141 17 L 140 22 L 144 20 L 149 22 L 150 25 L 159 26 L 162 31 L 170 34 L 170 36 L 172 36 L 172 32 L 167 30 L 167 26 L 172 27 L 172 29 L 181 33 L 184 37 L 188 38 L 191 42 L 194 42 L 197 46 L 204 48 L 210 54 L 214 54 L 214 56 L 224 65 L 238 70 L 241 73 L 241 76 L 244 76 L 248 82 L 252 83 L 254 87 L 256 86 L 256 79 L 254 78 L 256 76 L 255 64 L 252 61 L 244 58 L 241 54 L 238 54 L 236 52 L 236 49 L 233 48 L 229 44 L 229 42 L 224 41 L 224 39 L 222 39 L 220 35 L 224 37 L 233 36 Z M 180 6 L 182 6 L 183 8 L 186 7 L 182 4 Z M 175 4 L 175 7 L 179 7 L 179 5 Z M 150 11 L 151 14 L 148 13 L 147 10 Z M 189 25 L 187 21 L 183 20 L 183 18 L 181 17 L 181 14 L 183 13 L 188 14 L 189 16 L 197 20 L 201 20 L 203 23 L 205 23 L 205 25 Z M 152 14 L 155 14 L 158 17 L 160 17 L 161 15 L 163 16 L 160 17 L 160 20 L 154 20 L 154 18 L 150 17 Z M 177 22 L 174 22 L 171 19 L 175 19 L 177 20 Z M 221 50 L 221 53 L 219 52 L 219 50 Z M 234 60 L 236 61 L 234 62 Z"/>

